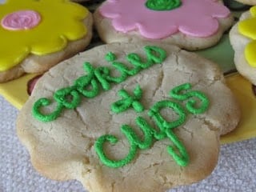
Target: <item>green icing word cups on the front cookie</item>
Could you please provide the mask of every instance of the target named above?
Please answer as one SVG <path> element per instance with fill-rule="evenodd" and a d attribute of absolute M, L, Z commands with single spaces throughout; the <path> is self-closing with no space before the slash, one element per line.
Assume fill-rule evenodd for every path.
<path fill-rule="evenodd" d="M 189 99 L 189 101 L 186 102 L 186 110 L 188 110 L 192 114 L 201 114 L 208 108 L 209 100 L 202 92 L 198 90 L 190 90 L 190 88 L 190 83 L 176 86 L 173 90 L 170 90 L 170 96 L 174 99 L 177 99 L 178 101 L 185 101 Z M 124 95 L 126 98 L 130 98 L 127 93 Z M 192 99 L 192 97 L 198 98 L 202 102 L 202 106 L 199 108 L 195 108 L 195 101 Z M 131 103 L 131 101 L 129 103 Z M 174 113 L 178 115 L 178 118 L 174 119 L 171 122 L 167 121 L 161 114 L 161 110 L 163 109 L 170 109 L 174 111 Z M 130 126 L 123 125 L 121 127 L 122 133 L 125 134 L 126 139 L 130 143 L 130 151 L 127 154 L 126 158 L 123 158 L 121 160 L 111 160 L 106 156 L 103 150 L 103 145 L 105 142 L 110 142 L 110 139 L 106 138 L 113 139 L 114 142 L 111 142 L 112 144 L 118 142 L 118 139 L 115 138 L 113 135 L 106 134 L 98 138 L 98 140 L 95 142 L 95 150 L 98 154 L 98 158 L 102 161 L 103 164 L 113 168 L 125 166 L 135 158 L 138 150 L 149 149 L 150 146 L 153 145 L 154 139 L 159 141 L 164 138 L 169 138 L 172 145 L 167 146 L 166 148 L 168 154 L 170 154 L 170 156 L 174 158 L 174 161 L 179 166 L 188 165 L 190 158 L 186 151 L 186 147 L 174 134 L 174 128 L 181 126 L 186 121 L 185 109 L 183 109 L 183 107 L 178 104 L 178 102 L 163 100 L 160 102 L 156 102 L 153 106 L 151 106 L 150 110 L 148 111 L 148 115 L 154 120 L 156 126 L 158 126 L 158 130 L 155 130 L 152 126 L 150 126 L 150 124 L 146 122 L 145 118 L 136 118 L 135 122 L 140 130 L 142 130 L 144 135 L 143 140 L 138 138 L 138 135 L 135 134 L 134 130 Z"/>

